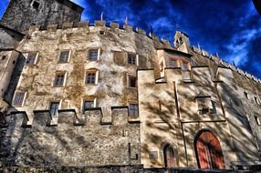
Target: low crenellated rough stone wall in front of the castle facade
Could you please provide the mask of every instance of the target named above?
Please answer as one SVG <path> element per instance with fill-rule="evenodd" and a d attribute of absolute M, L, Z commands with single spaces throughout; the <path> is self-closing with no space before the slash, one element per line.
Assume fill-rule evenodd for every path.
<path fill-rule="evenodd" d="M 129 123 L 128 108 L 113 108 L 112 122 L 104 124 L 100 110 L 89 110 L 81 120 L 59 113 L 56 126 L 48 115 L 35 114 L 32 126 L 24 115 L 6 117 L 1 128 L 2 166 L 136 165 L 140 158 L 140 124 Z M 5 134 L 3 136 L 3 134 Z"/>

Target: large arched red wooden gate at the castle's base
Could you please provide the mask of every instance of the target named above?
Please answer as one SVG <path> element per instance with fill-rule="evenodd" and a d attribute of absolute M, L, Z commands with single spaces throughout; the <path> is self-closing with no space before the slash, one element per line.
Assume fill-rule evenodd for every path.
<path fill-rule="evenodd" d="M 224 168 L 224 157 L 217 137 L 211 131 L 202 131 L 195 138 L 199 168 Z"/>

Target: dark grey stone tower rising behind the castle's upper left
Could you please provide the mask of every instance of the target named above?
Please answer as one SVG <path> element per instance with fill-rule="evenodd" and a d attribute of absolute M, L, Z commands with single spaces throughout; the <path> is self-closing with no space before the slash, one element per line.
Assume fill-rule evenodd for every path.
<path fill-rule="evenodd" d="M 33 2 L 10 1 L 0 24 L 18 32 L 26 32 L 32 24 L 47 26 L 51 23 L 62 25 L 64 22 L 79 22 L 83 10 L 68 0 L 63 4 L 57 0 L 37 0 L 38 9 L 34 8 Z"/>

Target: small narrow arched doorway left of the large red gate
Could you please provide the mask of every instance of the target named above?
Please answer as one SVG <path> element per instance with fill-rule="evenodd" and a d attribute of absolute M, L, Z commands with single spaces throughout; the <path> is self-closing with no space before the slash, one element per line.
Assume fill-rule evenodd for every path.
<path fill-rule="evenodd" d="M 174 154 L 174 150 L 171 145 L 166 145 L 163 148 L 163 155 L 164 155 L 164 164 L 166 168 L 172 168 L 176 166 L 176 158 Z"/>

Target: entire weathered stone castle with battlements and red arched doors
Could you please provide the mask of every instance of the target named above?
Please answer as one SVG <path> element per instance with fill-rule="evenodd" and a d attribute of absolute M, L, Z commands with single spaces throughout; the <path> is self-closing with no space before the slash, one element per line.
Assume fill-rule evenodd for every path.
<path fill-rule="evenodd" d="M 11 0 L 0 22 L 0 167 L 261 165 L 261 80 L 68 0 Z"/>

